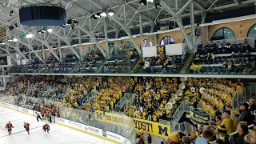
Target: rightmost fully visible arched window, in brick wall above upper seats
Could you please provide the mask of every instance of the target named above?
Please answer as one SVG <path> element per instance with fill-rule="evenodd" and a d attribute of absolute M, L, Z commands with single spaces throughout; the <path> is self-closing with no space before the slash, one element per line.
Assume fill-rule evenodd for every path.
<path fill-rule="evenodd" d="M 234 37 L 234 32 L 230 28 L 222 27 L 215 31 L 214 38 L 218 39 L 232 39 Z"/>

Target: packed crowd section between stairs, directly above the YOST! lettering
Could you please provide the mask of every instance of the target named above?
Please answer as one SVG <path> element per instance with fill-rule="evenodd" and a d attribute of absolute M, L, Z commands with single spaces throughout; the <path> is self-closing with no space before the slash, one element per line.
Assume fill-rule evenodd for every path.
<path fill-rule="evenodd" d="M 127 104 L 125 114 L 134 118 L 141 118 L 158 122 L 159 119 L 170 119 L 174 106 L 178 105 L 177 78 L 137 78 L 131 80 L 135 99 Z M 167 102 L 173 97 L 174 106 L 167 107 Z M 174 98 L 175 97 L 175 98 Z M 176 102 L 177 101 L 177 102 Z"/>

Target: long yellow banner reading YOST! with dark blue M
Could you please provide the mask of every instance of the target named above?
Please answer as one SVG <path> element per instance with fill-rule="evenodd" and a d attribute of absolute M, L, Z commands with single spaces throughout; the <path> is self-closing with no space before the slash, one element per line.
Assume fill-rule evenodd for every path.
<path fill-rule="evenodd" d="M 170 138 L 170 126 L 158 122 L 151 122 L 138 118 L 131 118 L 121 114 L 106 113 L 99 110 L 95 111 L 94 117 L 97 121 L 110 123 L 116 126 L 133 126 L 134 130 L 143 130 L 146 134 L 153 134 L 162 138 Z"/>

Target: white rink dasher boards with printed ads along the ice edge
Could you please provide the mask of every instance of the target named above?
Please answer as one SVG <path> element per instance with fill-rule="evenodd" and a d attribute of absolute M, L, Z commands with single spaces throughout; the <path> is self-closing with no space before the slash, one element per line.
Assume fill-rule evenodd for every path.
<path fill-rule="evenodd" d="M 21 112 L 23 114 L 29 114 L 31 116 L 36 117 L 36 114 L 35 114 L 36 111 L 34 111 L 34 110 L 28 110 L 28 109 L 20 107 L 20 106 L 14 106 L 14 105 L 11 105 L 11 104 L 6 103 L 6 102 L 0 102 L 0 106 L 6 107 L 6 108 L 11 109 L 11 110 L 16 110 L 16 111 Z M 87 125 L 84 125 L 82 123 L 66 120 L 64 118 L 56 118 L 55 122 L 58 125 L 66 126 L 68 128 L 78 130 L 78 131 L 81 131 L 81 132 L 86 133 L 86 134 L 90 134 L 90 135 L 93 135 L 93 136 L 96 136 L 96 137 L 99 137 L 99 138 L 103 138 L 103 139 L 106 139 L 110 142 L 114 142 L 114 143 L 126 142 L 126 144 L 131 144 L 131 142 L 128 139 L 122 137 L 119 134 L 115 134 L 115 133 L 112 133 L 112 132 L 107 131 L 107 130 L 98 129 L 98 128 L 93 127 L 93 126 L 87 126 Z"/>

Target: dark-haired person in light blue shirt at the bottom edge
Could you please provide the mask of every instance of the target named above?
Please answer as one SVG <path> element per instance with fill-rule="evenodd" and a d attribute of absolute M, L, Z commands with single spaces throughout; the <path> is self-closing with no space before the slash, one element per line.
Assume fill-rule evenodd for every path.
<path fill-rule="evenodd" d="M 195 140 L 195 144 L 208 144 L 212 141 L 214 137 L 214 131 L 210 129 L 206 129 L 202 132 L 202 137 L 198 137 Z"/>

